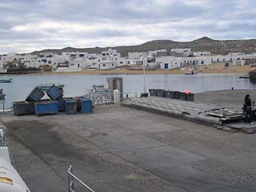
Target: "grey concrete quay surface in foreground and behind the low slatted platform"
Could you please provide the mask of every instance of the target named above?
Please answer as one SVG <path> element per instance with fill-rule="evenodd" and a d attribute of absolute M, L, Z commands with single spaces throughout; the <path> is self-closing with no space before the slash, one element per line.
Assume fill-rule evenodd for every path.
<path fill-rule="evenodd" d="M 215 94 L 210 102 L 227 97 Z M 196 99 L 210 99 L 204 95 Z M 256 191 L 256 134 L 118 105 L 96 106 L 94 114 L 0 118 L 14 166 L 31 192 L 68 191 L 70 165 L 96 192 Z"/>

